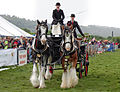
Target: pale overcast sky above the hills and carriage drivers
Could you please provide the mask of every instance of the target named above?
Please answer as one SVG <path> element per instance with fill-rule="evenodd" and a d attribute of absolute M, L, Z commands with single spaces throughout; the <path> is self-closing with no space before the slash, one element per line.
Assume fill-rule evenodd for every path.
<path fill-rule="evenodd" d="M 52 21 L 55 3 L 60 2 L 65 23 L 76 14 L 80 25 L 101 25 L 120 28 L 120 0 L 1 0 L 0 14 L 16 15 L 31 20 Z"/>

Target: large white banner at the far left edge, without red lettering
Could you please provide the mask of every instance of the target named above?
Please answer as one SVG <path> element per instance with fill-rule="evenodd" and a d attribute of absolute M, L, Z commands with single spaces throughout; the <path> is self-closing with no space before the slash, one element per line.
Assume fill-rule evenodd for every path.
<path fill-rule="evenodd" d="M 0 67 L 17 65 L 17 49 L 0 50 Z"/>

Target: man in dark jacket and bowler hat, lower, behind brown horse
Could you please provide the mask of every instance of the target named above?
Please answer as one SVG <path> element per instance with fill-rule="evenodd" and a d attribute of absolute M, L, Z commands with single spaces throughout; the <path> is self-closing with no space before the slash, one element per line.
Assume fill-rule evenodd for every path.
<path fill-rule="evenodd" d="M 73 26 L 73 29 L 74 29 L 74 28 L 77 28 L 78 31 L 80 32 L 80 34 L 84 37 L 85 35 L 83 34 L 80 26 L 78 25 L 78 22 L 74 20 L 74 19 L 75 19 L 75 14 L 71 14 L 70 17 L 71 17 L 71 20 L 67 22 L 67 25 L 68 25 L 68 26 L 71 26 L 71 25 L 72 25 L 72 26 Z M 76 33 L 76 31 L 74 31 L 74 37 L 77 38 L 77 33 Z"/>

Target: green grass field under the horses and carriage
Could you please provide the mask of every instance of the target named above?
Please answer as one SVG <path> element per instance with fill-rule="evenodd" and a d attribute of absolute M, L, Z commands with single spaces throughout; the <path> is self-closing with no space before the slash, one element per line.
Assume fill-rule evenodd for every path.
<path fill-rule="evenodd" d="M 61 89 L 62 71 L 54 71 L 45 89 L 33 88 L 32 63 L 0 72 L 0 92 L 120 92 L 120 50 L 90 58 L 89 74 L 75 88 Z"/>

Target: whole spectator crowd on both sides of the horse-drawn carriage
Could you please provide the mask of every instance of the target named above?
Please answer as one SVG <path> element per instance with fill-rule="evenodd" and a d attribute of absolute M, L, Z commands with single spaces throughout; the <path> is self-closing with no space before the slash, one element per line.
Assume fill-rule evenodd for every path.
<path fill-rule="evenodd" d="M 0 37 L 0 49 L 15 49 L 22 48 L 27 50 L 28 62 L 32 61 L 32 41 L 33 38 L 26 37 Z M 94 56 L 95 54 L 103 53 L 105 51 L 114 51 L 120 48 L 120 43 L 114 43 L 108 40 L 97 41 L 93 38 L 87 42 L 89 55 Z"/>

